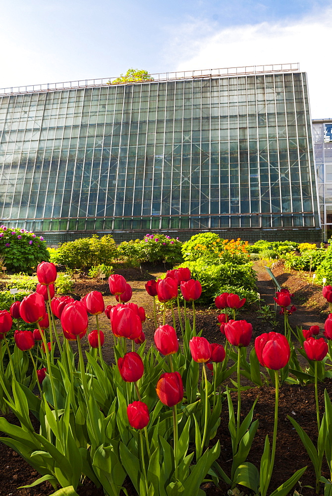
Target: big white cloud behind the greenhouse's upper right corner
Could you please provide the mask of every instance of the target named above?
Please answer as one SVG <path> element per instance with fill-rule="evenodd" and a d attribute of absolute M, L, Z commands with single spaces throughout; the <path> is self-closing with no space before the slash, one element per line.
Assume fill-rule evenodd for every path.
<path fill-rule="evenodd" d="M 175 70 L 300 62 L 300 69 L 308 73 L 312 118 L 332 118 L 331 30 L 332 8 L 296 21 L 263 22 L 219 31 L 206 22 L 193 20 L 173 33 L 167 65 L 170 59 L 175 62 Z"/>

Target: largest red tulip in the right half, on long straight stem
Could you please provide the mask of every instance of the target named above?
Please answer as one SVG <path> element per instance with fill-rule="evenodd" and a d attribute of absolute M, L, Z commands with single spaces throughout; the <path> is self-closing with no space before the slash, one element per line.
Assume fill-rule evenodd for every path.
<path fill-rule="evenodd" d="M 289 361 L 290 349 L 287 338 L 278 332 L 266 332 L 255 339 L 257 358 L 263 367 L 277 371 Z"/>

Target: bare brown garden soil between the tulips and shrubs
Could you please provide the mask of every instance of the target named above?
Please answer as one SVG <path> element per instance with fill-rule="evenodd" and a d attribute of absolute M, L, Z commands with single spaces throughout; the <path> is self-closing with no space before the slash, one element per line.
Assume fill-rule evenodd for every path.
<path fill-rule="evenodd" d="M 262 262 L 255 263 L 258 281 L 257 290 L 261 296 L 261 306 L 270 305 L 273 308 L 274 286 L 270 276 L 266 272 Z M 153 298 L 145 291 L 145 282 L 152 278 L 157 278 L 165 272 L 164 265 L 151 266 L 143 264 L 141 269 L 128 269 L 121 266 L 116 267 L 116 272 L 122 274 L 127 282 L 133 288 L 132 301 L 139 306 L 143 306 L 146 311 L 147 319 L 143 324 L 143 330 L 146 334 L 148 346 L 152 343 L 155 329 L 153 319 Z M 321 288 L 312 285 L 312 279 L 306 273 L 297 271 L 284 271 L 282 264 L 277 264 L 273 269 L 275 276 L 280 285 L 287 287 L 291 293 L 294 293 L 292 303 L 297 307 L 297 311 L 289 316 L 289 322 L 293 329 L 296 325 L 308 328 L 310 325 L 319 325 L 321 332 L 324 330 L 324 321 L 328 314 L 328 306 L 321 295 Z M 96 280 L 79 279 L 73 287 L 73 295 L 78 299 L 92 290 L 101 291 L 104 294 L 107 305 L 116 304 L 115 298 L 111 296 L 108 284 L 101 284 Z M 224 336 L 221 335 L 217 326 L 218 310 L 207 307 L 197 307 L 196 327 L 203 330 L 205 336 L 210 342 L 224 344 Z M 255 338 L 262 332 L 271 330 L 283 331 L 283 316 L 277 314 L 277 327 L 272 322 L 264 321 L 259 318 L 259 306 L 250 305 L 241 309 L 237 318 L 245 319 L 253 325 L 253 337 Z M 190 312 L 189 312 L 190 313 Z M 90 329 L 94 326 L 94 318 L 90 317 Z M 159 321 L 162 314 L 158 314 Z M 172 324 L 170 312 L 167 312 L 167 323 Z M 110 322 L 105 315 L 100 317 L 102 330 L 105 332 L 105 344 L 103 347 L 104 359 L 111 363 L 113 361 L 112 353 L 112 335 Z M 87 348 L 87 347 L 86 347 Z M 249 351 L 248 351 L 249 352 Z M 243 380 L 243 384 L 244 384 Z M 249 383 L 248 383 L 249 385 Z M 319 384 L 320 408 L 324 407 L 324 389 L 327 388 L 329 394 L 332 394 L 332 380 L 327 380 Z M 236 411 L 236 393 L 232 393 L 234 409 Z M 263 453 L 265 437 L 268 434 L 272 444 L 272 434 L 274 426 L 274 403 L 275 389 L 272 387 L 250 388 L 241 394 L 241 417 L 249 412 L 253 402 L 258 397 L 258 402 L 254 411 L 254 420 L 259 420 L 259 428 L 254 438 L 250 450 L 248 461 L 252 462 L 259 468 L 260 459 Z M 273 472 L 269 494 L 279 485 L 285 482 L 298 469 L 308 466 L 302 476 L 300 483 L 294 489 L 303 496 L 313 496 L 315 491 L 305 486 L 315 486 L 315 474 L 312 463 L 304 449 L 298 434 L 293 429 L 287 416 L 294 418 L 300 426 L 311 437 L 314 444 L 317 441 L 317 421 L 315 408 L 315 393 L 313 384 L 301 387 L 299 385 L 283 384 L 279 393 L 279 416 L 278 416 L 278 433 L 277 433 L 277 453 L 275 459 L 275 469 Z M 7 420 L 17 423 L 13 414 L 9 414 Z M 34 426 L 38 429 L 38 422 L 33 419 Z M 223 403 L 221 412 L 221 424 L 218 429 L 216 438 L 211 441 L 211 446 L 217 442 L 221 443 L 221 454 L 218 460 L 226 474 L 230 473 L 231 468 L 231 442 L 228 433 L 228 410 L 226 403 Z M 323 476 L 329 478 L 327 465 L 323 465 Z M 49 483 L 44 483 L 38 487 L 30 489 L 18 489 L 19 486 L 28 485 L 38 478 L 35 472 L 22 458 L 6 445 L 0 443 L 0 496 L 49 496 L 54 490 Z M 125 487 L 129 496 L 136 496 L 130 480 L 125 481 Z M 202 489 L 208 496 L 225 496 L 227 487 L 221 483 L 220 488 L 216 488 L 211 483 L 202 485 Z M 241 488 L 239 488 L 241 489 Z M 251 495 L 250 490 L 242 488 L 244 495 Z M 293 495 L 294 489 L 290 495 Z M 102 496 L 103 491 L 97 489 L 91 481 L 85 480 L 83 486 L 77 489 L 80 496 Z M 323 488 L 321 491 L 323 495 Z M 188 495 L 189 496 L 189 495 Z"/>

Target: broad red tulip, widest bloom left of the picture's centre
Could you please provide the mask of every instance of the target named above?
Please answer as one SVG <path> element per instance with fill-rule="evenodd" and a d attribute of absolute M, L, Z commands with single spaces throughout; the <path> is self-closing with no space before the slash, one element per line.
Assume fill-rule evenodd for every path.
<path fill-rule="evenodd" d="M 126 305 L 116 305 L 110 312 L 111 328 L 114 336 L 137 339 L 142 332 L 139 316 Z"/>

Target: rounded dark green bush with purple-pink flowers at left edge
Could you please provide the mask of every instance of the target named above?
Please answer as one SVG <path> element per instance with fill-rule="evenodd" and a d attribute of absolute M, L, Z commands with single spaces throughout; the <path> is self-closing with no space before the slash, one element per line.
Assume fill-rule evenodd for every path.
<path fill-rule="evenodd" d="M 0 227 L 0 256 L 4 257 L 7 269 L 27 272 L 42 261 L 48 261 L 50 254 L 43 237 L 25 229 Z"/>

